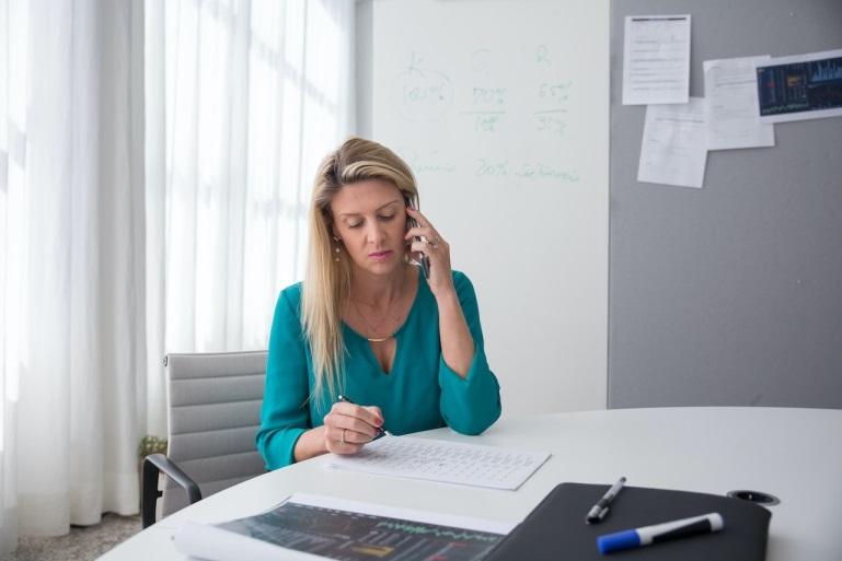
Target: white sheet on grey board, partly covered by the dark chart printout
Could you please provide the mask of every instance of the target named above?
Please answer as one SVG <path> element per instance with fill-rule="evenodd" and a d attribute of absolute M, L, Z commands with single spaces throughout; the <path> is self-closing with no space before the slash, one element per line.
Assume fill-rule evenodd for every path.
<path fill-rule="evenodd" d="M 705 60 L 707 150 L 775 145 L 774 125 L 758 118 L 756 65 L 769 58 Z"/>

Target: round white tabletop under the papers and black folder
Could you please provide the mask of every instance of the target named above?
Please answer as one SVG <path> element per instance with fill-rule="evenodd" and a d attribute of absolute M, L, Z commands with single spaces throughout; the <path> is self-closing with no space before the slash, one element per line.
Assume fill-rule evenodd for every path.
<path fill-rule="evenodd" d="M 620 476 L 637 487 L 772 493 L 781 504 L 770 507 L 769 561 L 842 554 L 842 410 L 619 409 L 503 419 L 478 437 L 449 429 L 419 435 L 553 455 L 518 491 L 327 470 L 325 457 L 319 457 L 209 496 L 101 559 L 186 559 L 171 540 L 181 523 L 247 516 L 296 492 L 520 521 L 560 482 L 609 484 Z"/>

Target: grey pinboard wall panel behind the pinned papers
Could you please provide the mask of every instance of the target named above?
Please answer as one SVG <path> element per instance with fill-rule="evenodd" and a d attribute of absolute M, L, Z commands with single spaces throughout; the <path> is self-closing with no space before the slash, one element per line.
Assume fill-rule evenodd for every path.
<path fill-rule="evenodd" d="M 702 96 L 703 60 L 842 48 L 842 2 L 611 8 L 609 407 L 842 407 L 842 117 L 710 152 L 702 189 L 642 184 L 621 83 L 626 15 L 692 14 Z"/>

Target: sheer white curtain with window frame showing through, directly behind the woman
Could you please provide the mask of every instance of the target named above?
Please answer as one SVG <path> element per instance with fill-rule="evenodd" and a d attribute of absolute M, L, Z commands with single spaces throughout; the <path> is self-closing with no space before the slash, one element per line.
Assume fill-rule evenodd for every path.
<path fill-rule="evenodd" d="M 146 3 L 149 430 L 166 352 L 266 348 L 324 154 L 354 127 L 354 0 Z"/>

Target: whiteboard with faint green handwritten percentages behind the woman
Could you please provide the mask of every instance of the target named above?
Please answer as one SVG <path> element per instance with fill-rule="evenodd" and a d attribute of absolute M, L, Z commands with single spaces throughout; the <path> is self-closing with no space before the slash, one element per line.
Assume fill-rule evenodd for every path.
<path fill-rule="evenodd" d="M 372 133 L 474 282 L 504 416 L 604 409 L 608 1 L 380 0 Z"/>

